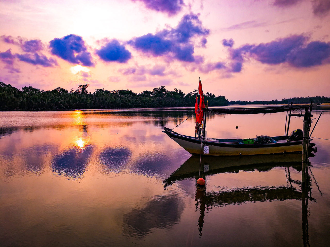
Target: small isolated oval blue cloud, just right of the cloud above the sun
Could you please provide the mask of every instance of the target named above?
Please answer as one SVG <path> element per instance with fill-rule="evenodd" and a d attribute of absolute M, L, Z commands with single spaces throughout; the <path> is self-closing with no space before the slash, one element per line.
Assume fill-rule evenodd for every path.
<path fill-rule="evenodd" d="M 125 46 L 119 44 L 117 40 L 112 40 L 102 46 L 101 49 L 96 50 L 96 54 L 106 62 L 126 63 L 132 57 Z"/>

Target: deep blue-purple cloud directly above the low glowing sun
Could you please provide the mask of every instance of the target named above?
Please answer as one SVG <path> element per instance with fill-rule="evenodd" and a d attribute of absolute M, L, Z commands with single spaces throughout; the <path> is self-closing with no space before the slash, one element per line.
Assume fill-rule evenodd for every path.
<path fill-rule="evenodd" d="M 82 37 L 69 34 L 62 38 L 49 41 L 51 53 L 70 63 L 93 66 L 92 56 L 87 52 L 85 41 Z"/>

